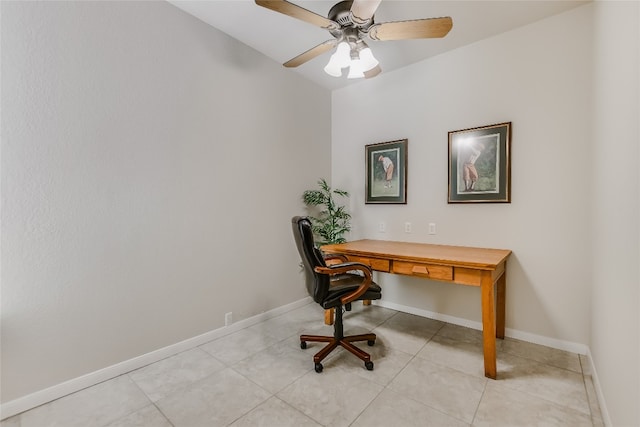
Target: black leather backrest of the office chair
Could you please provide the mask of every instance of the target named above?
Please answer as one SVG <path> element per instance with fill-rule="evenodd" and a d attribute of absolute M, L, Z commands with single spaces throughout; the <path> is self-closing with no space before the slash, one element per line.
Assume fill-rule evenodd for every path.
<path fill-rule="evenodd" d="M 307 291 L 315 302 L 322 304 L 329 293 L 330 279 L 326 274 L 319 274 L 315 271 L 316 267 L 326 267 L 326 264 L 322 252 L 316 248 L 313 241 L 311 221 L 307 217 L 295 216 L 291 219 L 291 228 L 300 259 L 304 265 Z"/>

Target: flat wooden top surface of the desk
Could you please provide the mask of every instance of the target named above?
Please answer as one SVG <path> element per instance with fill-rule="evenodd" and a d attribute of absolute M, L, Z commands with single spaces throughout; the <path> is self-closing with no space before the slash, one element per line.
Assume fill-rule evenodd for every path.
<path fill-rule="evenodd" d="M 511 254 L 508 249 L 432 245 L 389 240 L 355 240 L 353 242 L 325 245 L 322 250 L 328 253 L 345 253 L 354 256 L 433 262 L 477 268 L 495 268 Z"/>

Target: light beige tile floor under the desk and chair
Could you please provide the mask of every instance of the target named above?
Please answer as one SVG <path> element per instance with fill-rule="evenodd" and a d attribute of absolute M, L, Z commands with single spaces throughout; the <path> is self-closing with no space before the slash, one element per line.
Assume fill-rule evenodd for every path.
<path fill-rule="evenodd" d="M 373 330 L 367 371 L 339 349 L 316 304 L 285 313 L 24 412 L 1 427 L 602 426 L 586 359 L 506 339 L 498 379 L 483 375 L 479 331 L 354 304 L 345 333 Z"/>

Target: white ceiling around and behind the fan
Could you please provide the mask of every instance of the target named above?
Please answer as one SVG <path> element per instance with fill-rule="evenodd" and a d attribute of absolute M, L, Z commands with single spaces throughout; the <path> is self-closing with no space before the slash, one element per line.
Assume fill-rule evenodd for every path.
<path fill-rule="evenodd" d="M 322 16 L 338 0 L 291 0 Z M 251 46 L 269 58 L 284 63 L 333 37 L 328 31 L 260 7 L 253 0 L 169 0 L 178 8 Z M 369 41 L 382 72 L 405 67 L 442 52 L 474 43 L 545 17 L 577 7 L 578 0 L 383 0 L 376 22 L 403 21 L 450 16 L 453 28 L 442 39 Z M 287 72 L 299 73 L 327 89 L 360 81 L 324 73 L 331 52 Z"/>

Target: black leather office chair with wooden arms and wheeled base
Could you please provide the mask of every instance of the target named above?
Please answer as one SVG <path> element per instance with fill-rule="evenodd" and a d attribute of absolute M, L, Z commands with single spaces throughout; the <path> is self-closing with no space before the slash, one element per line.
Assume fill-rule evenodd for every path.
<path fill-rule="evenodd" d="M 364 361 L 368 370 L 373 370 L 371 356 L 352 343 L 366 341 L 370 346 L 376 342 L 376 335 L 362 334 L 344 336 L 342 314 L 343 307 L 350 307 L 351 302 L 358 300 L 374 300 L 381 298 L 380 286 L 371 280 L 371 269 L 365 264 L 343 262 L 327 266 L 322 252 L 315 247 L 311 221 L 306 217 L 293 217 L 291 220 L 293 235 L 304 264 L 305 280 L 309 295 L 322 308 L 335 308 L 333 336 L 300 335 L 300 347 L 307 348 L 307 342 L 328 343 L 313 356 L 316 372 L 322 372 L 322 360 L 339 345 Z M 356 274 L 361 271 L 364 275 Z"/>

